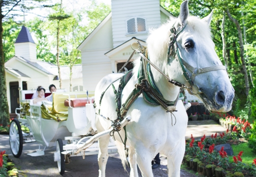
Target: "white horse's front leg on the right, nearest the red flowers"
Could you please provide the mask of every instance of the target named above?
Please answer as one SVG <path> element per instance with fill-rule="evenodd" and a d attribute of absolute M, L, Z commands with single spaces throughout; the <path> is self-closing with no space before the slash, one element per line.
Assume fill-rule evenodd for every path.
<path fill-rule="evenodd" d="M 167 157 L 168 177 L 180 177 L 181 163 L 185 153 L 185 141 Z"/>

